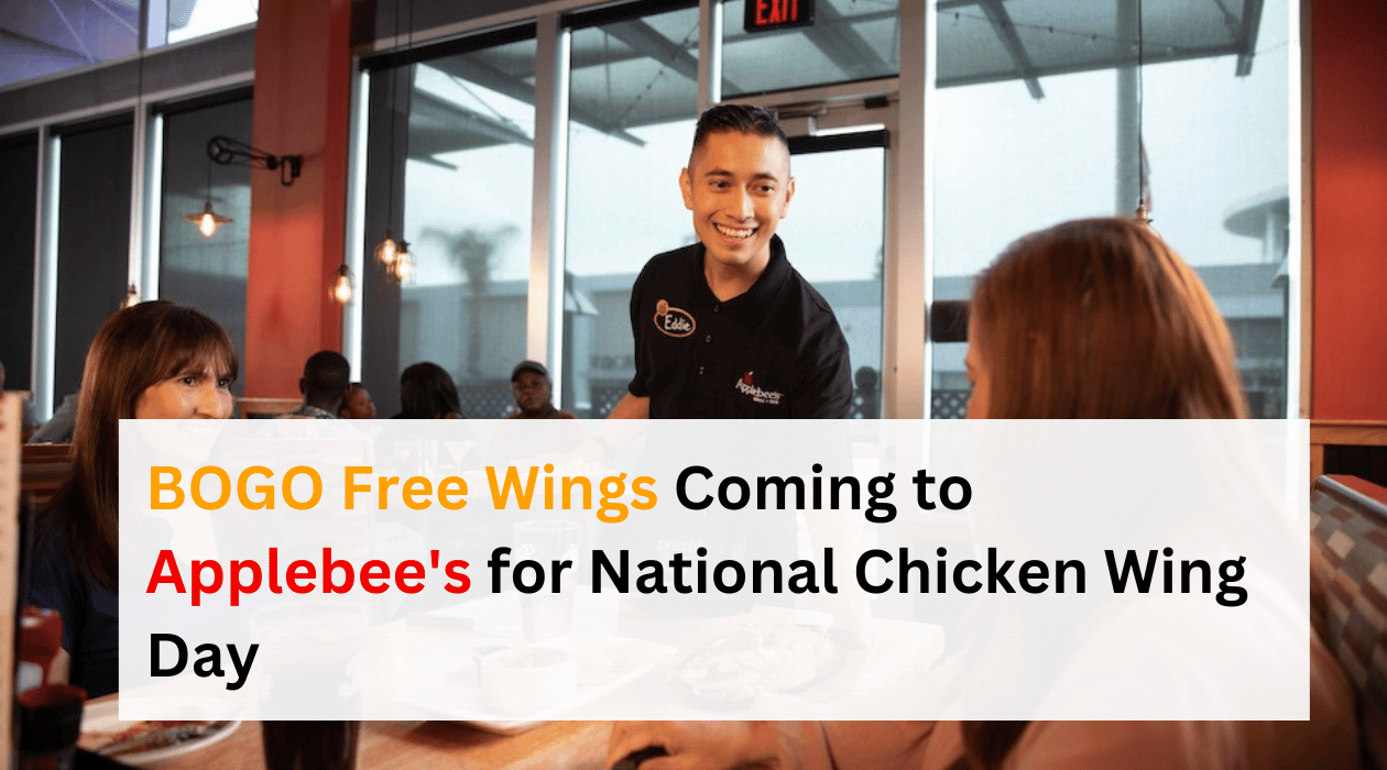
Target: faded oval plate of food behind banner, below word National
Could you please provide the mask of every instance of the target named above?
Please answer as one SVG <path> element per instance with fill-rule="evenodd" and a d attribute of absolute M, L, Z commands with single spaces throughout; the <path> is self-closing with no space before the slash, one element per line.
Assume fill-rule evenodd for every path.
<path fill-rule="evenodd" d="M 842 666 L 845 641 L 824 626 L 750 623 L 689 655 L 678 679 L 703 705 L 745 706 L 824 681 Z"/>

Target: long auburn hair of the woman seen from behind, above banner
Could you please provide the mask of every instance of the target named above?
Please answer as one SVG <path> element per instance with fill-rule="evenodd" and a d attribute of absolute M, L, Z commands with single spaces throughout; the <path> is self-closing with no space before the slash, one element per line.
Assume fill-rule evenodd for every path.
<path fill-rule="evenodd" d="M 1021 238 L 978 278 L 971 313 L 988 417 L 1247 417 L 1214 301 L 1143 224 L 1082 219 Z"/>

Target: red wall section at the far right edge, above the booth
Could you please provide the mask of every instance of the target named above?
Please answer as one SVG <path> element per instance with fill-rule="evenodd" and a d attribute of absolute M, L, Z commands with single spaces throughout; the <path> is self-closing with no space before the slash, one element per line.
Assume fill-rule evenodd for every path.
<path fill-rule="evenodd" d="M 1387 3 L 1311 3 L 1311 417 L 1387 420 Z"/>

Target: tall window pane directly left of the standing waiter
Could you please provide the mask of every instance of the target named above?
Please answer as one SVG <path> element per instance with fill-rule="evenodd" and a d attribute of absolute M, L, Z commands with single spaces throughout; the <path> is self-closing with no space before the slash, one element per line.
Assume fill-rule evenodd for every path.
<path fill-rule="evenodd" d="M 563 407 L 605 417 L 635 374 L 637 273 L 695 240 L 678 177 L 698 114 L 699 22 L 689 7 L 574 26 Z"/>

